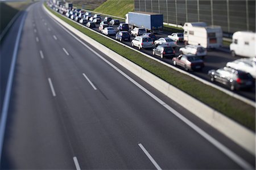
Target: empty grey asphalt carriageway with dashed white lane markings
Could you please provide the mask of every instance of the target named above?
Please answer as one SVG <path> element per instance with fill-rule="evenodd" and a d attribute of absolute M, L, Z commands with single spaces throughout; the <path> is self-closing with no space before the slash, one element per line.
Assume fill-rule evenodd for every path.
<path fill-rule="evenodd" d="M 90 48 L 254 167 L 254 156 Z M 242 169 L 102 58 L 42 2 L 27 9 L 0 169 Z"/>

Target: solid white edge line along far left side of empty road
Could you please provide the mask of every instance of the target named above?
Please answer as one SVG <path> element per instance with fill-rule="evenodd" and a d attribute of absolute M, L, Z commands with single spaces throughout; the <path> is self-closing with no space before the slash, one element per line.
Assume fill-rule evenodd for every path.
<path fill-rule="evenodd" d="M 11 87 L 13 86 L 15 63 L 18 56 L 19 41 L 20 41 L 20 36 L 22 34 L 22 29 L 23 29 L 24 20 L 26 19 L 26 16 L 27 14 L 24 13 L 22 21 L 20 22 L 19 31 L 17 34 L 17 39 L 15 41 L 15 46 L 13 51 L 13 58 L 11 59 L 10 72 L 9 72 L 6 91 L 5 91 L 5 98 L 3 99 L 2 113 L 1 113 L 1 120 L 0 120 L 0 164 L 1 164 L 1 157 L 2 157 L 3 140 L 5 137 L 6 120 L 8 116 L 9 103 L 11 98 Z"/>

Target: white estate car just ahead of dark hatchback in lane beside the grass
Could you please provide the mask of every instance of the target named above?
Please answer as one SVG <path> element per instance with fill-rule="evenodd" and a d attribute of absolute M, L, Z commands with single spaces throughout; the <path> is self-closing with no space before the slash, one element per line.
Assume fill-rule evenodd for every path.
<path fill-rule="evenodd" d="M 139 49 L 152 48 L 153 44 L 153 40 L 148 36 L 137 36 L 131 41 L 131 46 L 138 46 Z"/>

